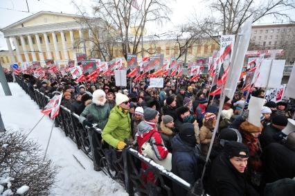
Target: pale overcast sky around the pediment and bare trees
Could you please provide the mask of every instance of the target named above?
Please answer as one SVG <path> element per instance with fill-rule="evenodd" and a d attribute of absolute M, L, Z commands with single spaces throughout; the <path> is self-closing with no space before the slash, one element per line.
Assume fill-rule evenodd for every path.
<path fill-rule="evenodd" d="M 69 14 L 77 14 L 72 0 L 28 0 L 28 11 L 26 0 L 0 0 L 0 28 L 6 27 L 20 19 L 24 19 L 34 13 L 39 11 L 52 11 L 52 12 L 64 12 Z M 92 15 L 91 5 L 93 5 L 93 0 L 74 0 L 78 5 L 83 6 L 89 16 Z M 96 0 L 98 1 L 98 0 Z M 138 4 L 142 0 L 137 0 Z M 147 26 L 147 34 L 159 34 L 168 31 L 175 30 L 175 26 L 179 26 L 184 23 L 193 13 L 197 12 L 199 17 L 202 17 L 203 13 L 211 14 L 211 10 L 208 9 L 208 1 L 204 0 L 171 0 L 170 8 L 172 9 L 172 14 L 170 15 L 170 22 L 166 22 L 163 26 L 149 25 Z M 283 10 L 284 8 L 282 8 Z M 295 19 L 294 10 L 284 11 L 292 15 Z M 272 23 L 274 19 L 265 18 L 259 21 L 260 24 Z M 3 34 L 0 33 L 0 50 L 7 49 L 6 41 L 3 38 Z"/>

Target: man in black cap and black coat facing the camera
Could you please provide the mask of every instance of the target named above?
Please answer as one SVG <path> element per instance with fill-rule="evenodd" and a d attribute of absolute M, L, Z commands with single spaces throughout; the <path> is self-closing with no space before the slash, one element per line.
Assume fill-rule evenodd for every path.
<path fill-rule="evenodd" d="M 258 195 L 245 178 L 248 158 L 249 150 L 246 145 L 227 141 L 222 154 L 213 161 L 209 195 Z"/>

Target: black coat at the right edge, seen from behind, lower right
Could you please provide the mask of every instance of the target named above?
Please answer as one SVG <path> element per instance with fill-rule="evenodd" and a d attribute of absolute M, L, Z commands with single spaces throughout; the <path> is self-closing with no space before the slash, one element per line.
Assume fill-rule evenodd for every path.
<path fill-rule="evenodd" d="M 262 153 L 265 181 L 271 183 L 295 177 L 295 151 L 280 143 L 270 143 Z"/>

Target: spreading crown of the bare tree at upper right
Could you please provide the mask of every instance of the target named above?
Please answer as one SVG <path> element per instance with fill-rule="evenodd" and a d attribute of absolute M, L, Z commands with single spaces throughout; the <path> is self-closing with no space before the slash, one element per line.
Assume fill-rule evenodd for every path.
<path fill-rule="evenodd" d="M 190 26 L 197 30 L 202 30 L 204 35 L 211 37 L 219 44 L 216 35 L 237 34 L 238 29 L 244 21 L 253 16 L 253 22 L 266 16 L 272 16 L 275 19 L 289 19 L 293 22 L 284 10 L 295 8 L 294 0 L 218 0 L 211 1 L 211 12 L 213 15 L 198 19 L 194 17 L 190 20 Z"/>

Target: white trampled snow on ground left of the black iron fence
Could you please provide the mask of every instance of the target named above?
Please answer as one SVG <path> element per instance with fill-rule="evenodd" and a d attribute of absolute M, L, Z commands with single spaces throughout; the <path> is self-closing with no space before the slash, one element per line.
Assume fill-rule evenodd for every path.
<path fill-rule="evenodd" d="M 30 132 L 42 118 L 37 104 L 17 83 L 9 83 L 12 96 L 4 96 L 0 86 L 0 112 L 7 130 Z M 45 116 L 29 135 L 45 150 L 53 121 Z M 82 163 L 82 168 L 75 158 Z M 93 170 L 93 163 L 58 127 L 53 128 L 47 157 L 59 173 L 52 195 L 127 195 L 125 189 L 103 172 Z"/>

